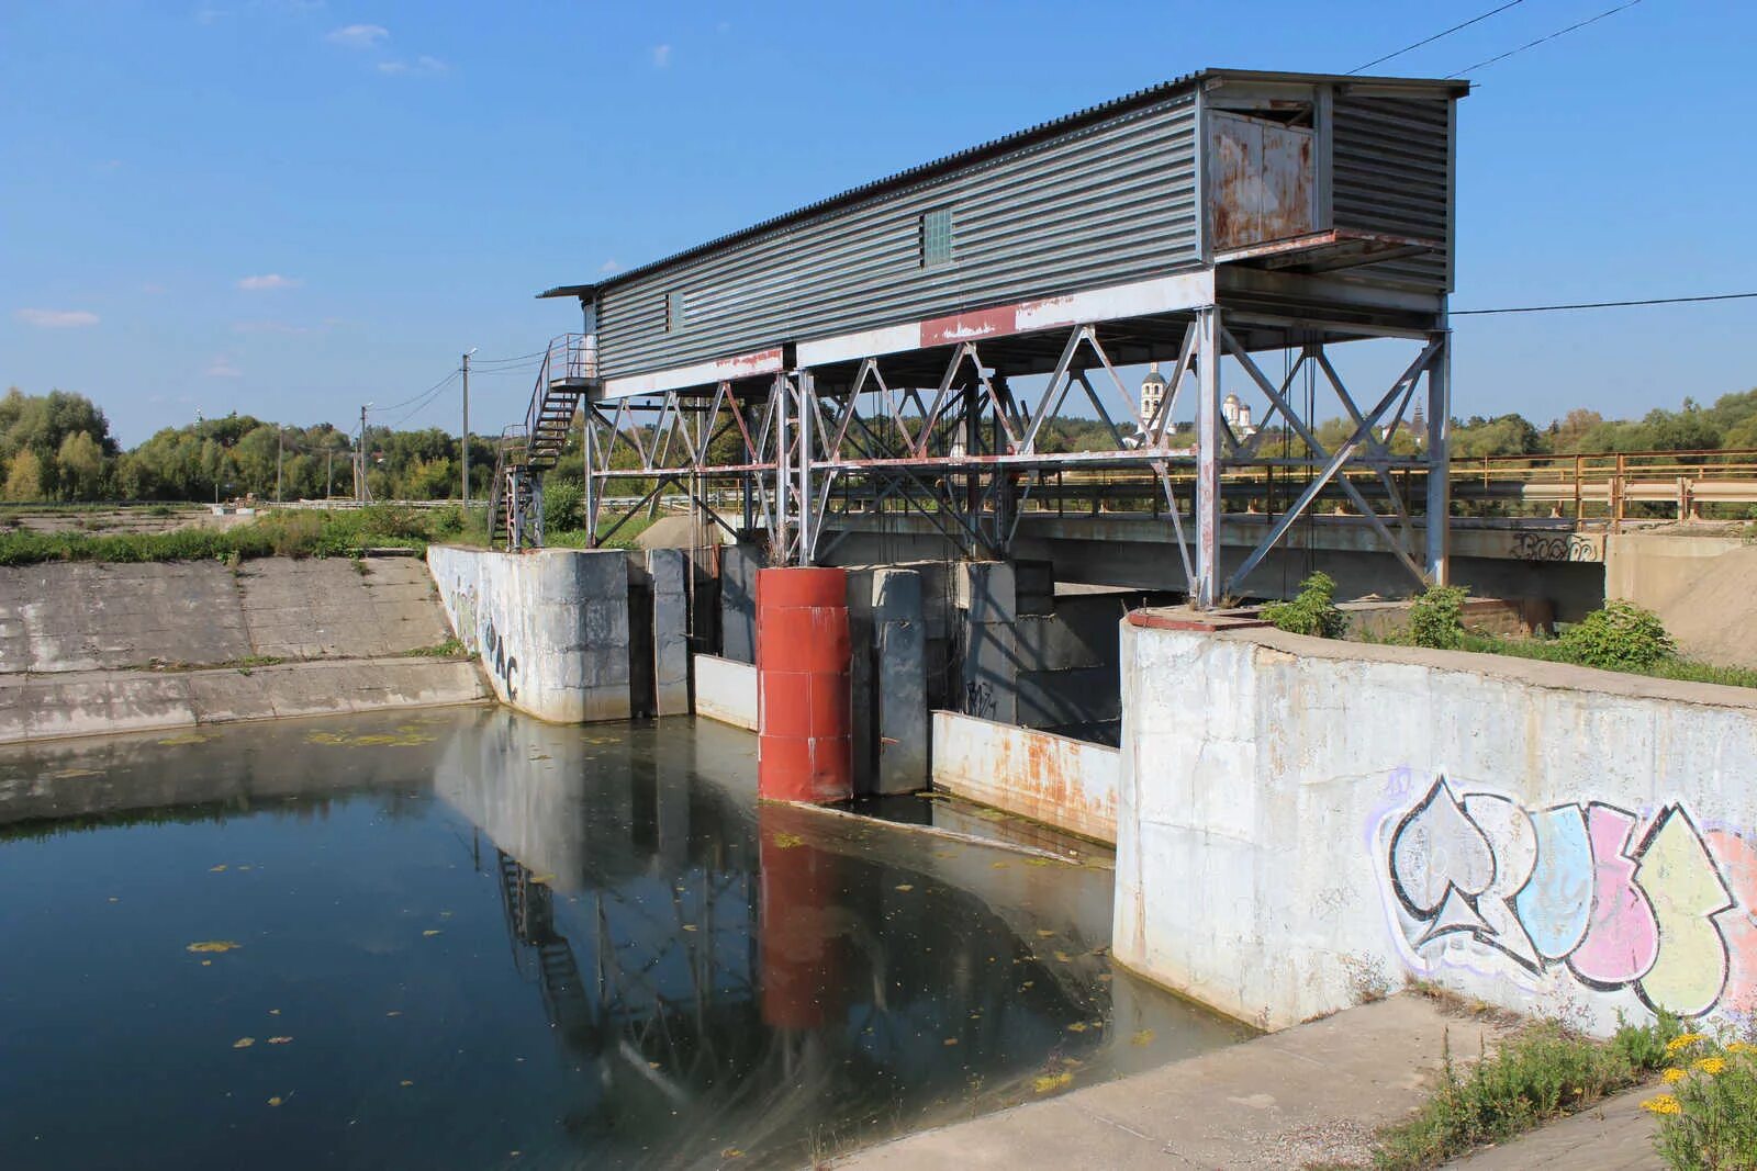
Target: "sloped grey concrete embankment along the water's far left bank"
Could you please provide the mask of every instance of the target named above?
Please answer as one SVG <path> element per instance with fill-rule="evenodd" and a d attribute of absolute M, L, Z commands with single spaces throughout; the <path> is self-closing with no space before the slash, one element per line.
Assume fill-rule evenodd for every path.
<path fill-rule="evenodd" d="M 0 569 L 0 743 L 476 702 L 415 558 Z"/>

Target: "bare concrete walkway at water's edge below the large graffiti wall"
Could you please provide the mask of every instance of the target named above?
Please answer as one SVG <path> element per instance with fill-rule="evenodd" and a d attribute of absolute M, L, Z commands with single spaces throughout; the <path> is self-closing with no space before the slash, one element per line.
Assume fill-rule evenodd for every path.
<path fill-rule="evenodd" d="M 1425 1099 L 1446 1039 L 1453 1053 L 1474 1057 L 1492 1034 L 1486 1022 L 1451 1017 L 1425 997 L 1395 995 L 1133 1078 L 912 1134 L 835 1166 L 1372 1166 L 1372 1132 Z M 1597 1171 L 1606 1166 L 1623 1164 L 1594 1164 Z"/>

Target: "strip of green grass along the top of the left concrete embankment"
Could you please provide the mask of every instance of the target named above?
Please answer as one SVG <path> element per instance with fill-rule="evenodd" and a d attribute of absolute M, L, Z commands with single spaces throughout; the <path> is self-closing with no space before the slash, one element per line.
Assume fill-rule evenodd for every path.
<path fill-rule="evenodd" d="M 425 553 L 429 541 L 459 534 L 459 509 L 399 509 L 369 506 L 346 511 L 279 511 L 228 528 L 176 528 L 172 532 L 0 534 L 0 565 L 42 562 L 225 562 L 258 557 L 358 557 L 364 550 L 402 548 Z"/>

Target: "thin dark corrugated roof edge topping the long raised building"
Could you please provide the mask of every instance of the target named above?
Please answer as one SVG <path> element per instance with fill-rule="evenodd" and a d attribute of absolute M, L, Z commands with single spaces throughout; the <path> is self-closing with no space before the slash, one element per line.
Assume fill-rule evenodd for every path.
<path fill-rule="evenodd" d="M 1161 81 L 1156 86 L 1147 86 L 1144 90 L 1135 90 L 1133 93 L 1124 93 L 1121 97 L 1110 98 L 1109 102 L 1100 102 L 1098 105 L 1088 105 L 1086 109 L 1075 111 L 1072 114 L 1063 114 L 1061 118 L 1052 118 L 1035 126 L 1026 126 L 1024 130 L 1016 130 L 1000 139 L 991 139 L 977 146 L 968 146 L 952 154 L 935 158 L 928 163 L 917 163 L 907 170 L 898 170 L 896 174 L 886 176 L 882 179 L 873 179 L 871 183 L 863 183 L 861 186 L 849 188 L 840 195 L 831 195 L 821 198 L 815 204 L 806 204 L 805 207 L 796 207 L 794 211 L 784 212 L 780 216 L 771 216 L 761 223 L 754 223 L 747 228 L 738 228 L 736 232 L 727 232 L 712 241 L 694 244 L 680 253 L 673 253 L 661 260 L 652 260 L 638 269 L 629 269 L 627 272 L 618 272 L 604 281 L 596 281 L 592 284 L 559 284 L 555 288 L 538 293 L 538 298 L 545 297 L 590 297 L 597 290 L 611 288 L 624 281 L 631 281 L 638 276 L 654 272 L 666 265 L 676 263 L 680 260 L 689 260 L 691 256 L 699 256 L 701 253 L 734 244 L 743 239 L 771 232 L 787 223 L 806 219 L 824 211 L 835 207 L 845 207 L 849 204 L 857 204 L 864 198 L 878 195 L 887 190 L 896 190 L 908 186 L 910 183 L 926 179 L 935 174 L 954 170 L 965 163 L 977 162 L 1014 147 L 1037 142 L 1040 139 L 1051 139 L 1066 130 L 1074 130 L 1084 123 L 1100 121 L 1110 114 L 1117 114 L 1137 105 L 1149 105 L 1160 98 L 1170 97 L 1182 90 L 1189 90 L 1197 84 L 1207 81 L 1258 81 L 1258 83 L 1290 83 L 1290 84 L 1339 84 L 1339 86 L 1411 86 L 1411 88 L 1432 88 L 1444 91 L 1450 97 L 1465 97 L 1471 91 L 1469 81 L 1444 79 L 1444 77 L 1360 77 L 1349 74 L 1283 74 L 1283 72 L 1265 72 L 1265 70 L 1247 70 L 1247 68 L 1202 68 L 1193 74 L 1184 74 L 1170 81 Z"/>

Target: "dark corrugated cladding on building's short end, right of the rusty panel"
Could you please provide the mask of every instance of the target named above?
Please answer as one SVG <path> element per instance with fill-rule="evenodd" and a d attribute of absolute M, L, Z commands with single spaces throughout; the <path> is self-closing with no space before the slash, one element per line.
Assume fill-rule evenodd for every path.
<path fill-rule="evenodd" d="M 1337 95 L 1330 190 L 1335 226 L 1446 241 L 1434 256 L 1386 260 L 1353 277 L 1451 290 L 1451 102 Z"/>

